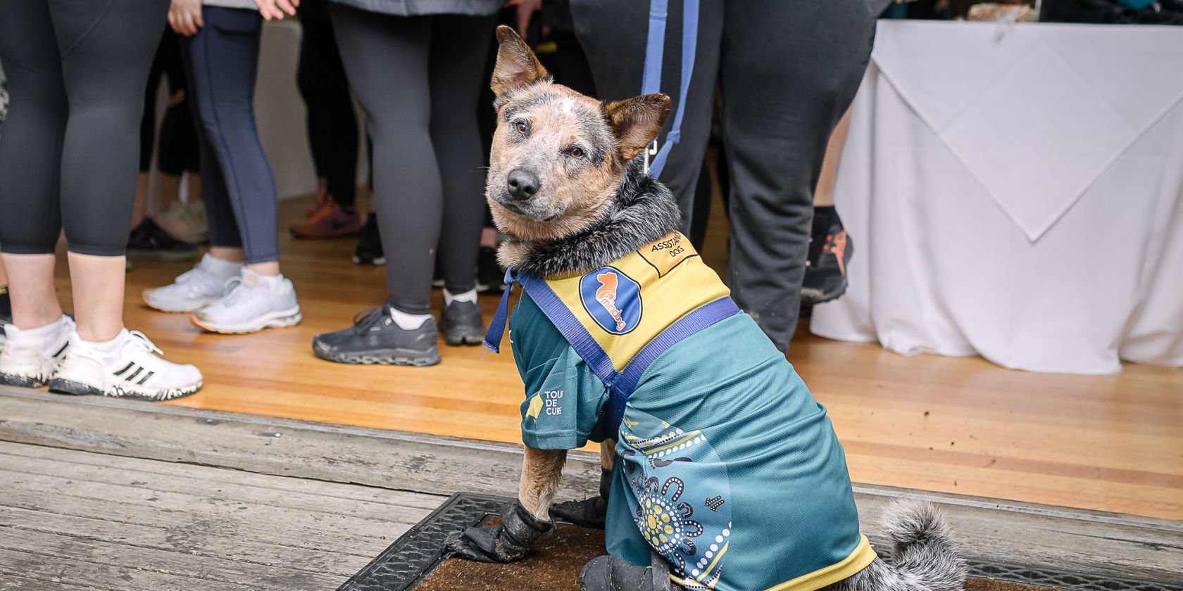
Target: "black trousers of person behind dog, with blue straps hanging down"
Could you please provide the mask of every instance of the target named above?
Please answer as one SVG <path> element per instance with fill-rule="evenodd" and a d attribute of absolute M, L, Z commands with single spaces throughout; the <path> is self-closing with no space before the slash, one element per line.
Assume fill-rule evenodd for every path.
<path fill-rule="evenodd" d="M 728 284 L 778 349 L 797 324 L 813 191 L 829 135 L 854 99 L 871 56 L 870 0 L 700 0 L 694 72 L 681 141 L 661 181 L 678 196 L 686 230 L 710 132 L 716 83 L 731 174 Z M 879 4 L 879 2 L 874 2 Z M 677 109 L 683 2 L 670 2 L 661 91 Z M 576 33 L 602 99 L 639 95 L 648 2 L 571 0 Z M 665 137 L 660 141 L 664 143 Z"/>

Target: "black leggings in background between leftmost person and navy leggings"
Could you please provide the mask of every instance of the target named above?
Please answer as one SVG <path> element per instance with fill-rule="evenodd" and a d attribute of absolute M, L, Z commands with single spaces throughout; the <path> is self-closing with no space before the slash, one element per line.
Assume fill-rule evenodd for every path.
<path fill-rule="evenodd" d="M 168 82 L 170 99 L 177 92 L 186 91 L 181 44 L 177 34 L 169 27 L 164 27 L 164 38 L 156 48 L 156 58 L 148 73 L 148 86 L 144 89 L 144 116 L 140 119 L 141 173 L 151 169 L 151 149 L 156 139 L 156 89 L 161 77 Z M 156 168 L 161 173 L 181 176 L 186 170 L 198 171 L 198 135 L 193 129 L 193 112 L 189 111 L 187 96 L 164 110 L 164 118 L 160 122 L 160 142 L 156 145 Z"/>

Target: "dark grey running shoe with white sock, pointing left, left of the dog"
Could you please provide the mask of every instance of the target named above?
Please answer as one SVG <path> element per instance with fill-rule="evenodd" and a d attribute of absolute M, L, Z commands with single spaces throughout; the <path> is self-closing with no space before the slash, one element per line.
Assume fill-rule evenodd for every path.
<path fill-rule="evenodd" d="M 360 312 L 345 330 L 312 337 L 312 351 L 337 363 L 424 366 L 440 362 L 438 340 L 434 318 L 403 330 L 394 324 L 387 304 Z"/>

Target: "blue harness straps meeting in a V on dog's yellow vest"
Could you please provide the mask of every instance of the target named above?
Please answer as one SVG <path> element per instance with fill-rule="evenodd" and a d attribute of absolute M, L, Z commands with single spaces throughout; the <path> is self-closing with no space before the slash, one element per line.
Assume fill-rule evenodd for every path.
<path fill-rule="evenodd" d="M 616 371 L 612 358 L 605 352 L 600 343 L 580 323 L 578 318 L 571 313 L 570 309 L 563 304 L 547 281 L 526 273 L 505 273 L 505 293 L 497 306 L 492 322 L 489 324 L 489 332 L 485 335 L 485 346 L 493 352 L 500 352 L 502 337 L 505 333 L 505 323 L 509 319 L 510 291 L 513 284 L 522 284 L 522 288 L 530 294 L 538 309 L 542 310 L 551 324 L 558 329 L 563 338 L 570 343 L 571 349 L 578 353 L 580 358 L 592 369 L 603 384 L 612 390 L 608 397 L 608 405 L 603 416 L 603 433 L 615 434 L 620 430 L 620 421 L 625 416 L 625 404 L 636 389 L 645 370 L 657 361 L 667 349 L 678 344 L 681 339 L 707 327 L 712 324 L 731 318 L 739 313 L 739 307 L 730 297 L 719 298 L 704 304 L 689 314 L 679 318 L 667 326 L 660 335 L 649 340 L 633 361 L 623 370 Z"/>

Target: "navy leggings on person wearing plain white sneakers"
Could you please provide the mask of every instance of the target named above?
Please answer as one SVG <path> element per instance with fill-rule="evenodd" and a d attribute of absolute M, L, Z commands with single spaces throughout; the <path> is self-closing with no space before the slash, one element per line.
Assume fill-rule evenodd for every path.
<path fill-rule="evenodd" d="M 181 40 L 201 145 L 209 245 L 243 248 L 246 262 L 279 260 L 276 180 L 254 124 L 263 17 L 206 6 L 205 27 Z"/>

